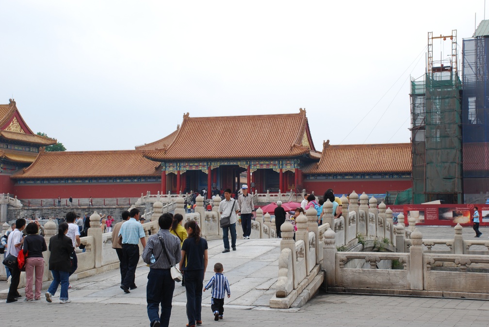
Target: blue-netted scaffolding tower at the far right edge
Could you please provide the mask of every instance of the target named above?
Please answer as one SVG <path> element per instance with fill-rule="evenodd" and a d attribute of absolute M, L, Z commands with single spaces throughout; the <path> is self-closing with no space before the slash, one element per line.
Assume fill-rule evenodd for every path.
<path fill-rule="evenodd" d="M 467 202 L 485 202 L 489 190 L 489 21 L 463 42 L 462 144 Z M 479 196 L 478 196 L 479 195 Z M 481 202 L 481 203 L 484 203 Z"/>

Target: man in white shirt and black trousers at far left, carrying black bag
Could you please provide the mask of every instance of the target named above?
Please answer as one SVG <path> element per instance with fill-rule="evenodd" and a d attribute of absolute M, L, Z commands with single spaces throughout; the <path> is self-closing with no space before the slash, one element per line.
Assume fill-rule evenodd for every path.
<path fill-rule="evenodd" d="M 16 228 L 14 231 L 8 236 L 7 247 L 5 248 L 5 257 L 8 257 L 9 254 L 17 257 L 21 251 L 21 247 L 24 242 L 24 235 L 22 234 L 22 231 L 25 228 L 25 219 L 17 219 L 15 221 L 15 227 Z M 7 303 L 16 302 L 17 298 L 21 297 L 17 291 L 17 287 L 19 287 L 19 282 L 21 280 L 21 270 L 19 269 L 19 266 L 15 265 L 13 268 L 10 268 L 10 274 L 11 280 L 7 295 Z"/>

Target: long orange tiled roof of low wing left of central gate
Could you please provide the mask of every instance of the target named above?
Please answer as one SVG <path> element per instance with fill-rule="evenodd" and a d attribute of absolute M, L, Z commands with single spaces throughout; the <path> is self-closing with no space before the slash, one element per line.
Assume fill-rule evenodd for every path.
<path fill-rule="evenodd" d="M 160 166 L 139 150 L 41 152 L 12 179 L 160 176 Z"/>

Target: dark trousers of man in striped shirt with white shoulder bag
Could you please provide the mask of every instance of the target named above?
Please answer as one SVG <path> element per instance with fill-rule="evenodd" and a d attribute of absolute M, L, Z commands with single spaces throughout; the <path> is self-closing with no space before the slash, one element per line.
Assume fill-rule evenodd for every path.
<path fill-rule="evenodd" d="M 159 320 L 160 326 L 170 325 L 174 289 L 175 281 L 172 279 L 170 269 L 150 269 L 146 286 L 146 302 L 151 324 Z M 160 303 L 161 315 L 158 314 Z"/>

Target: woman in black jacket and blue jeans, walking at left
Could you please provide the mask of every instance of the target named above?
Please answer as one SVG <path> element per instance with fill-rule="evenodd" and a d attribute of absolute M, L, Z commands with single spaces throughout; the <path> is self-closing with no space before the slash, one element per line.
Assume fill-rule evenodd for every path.
<path fill-rule="evenodd" d="M 46 301 L 51 303 L 52 297 L 61 283 L 60 303 L 70 303 L 68 300 L 68 277 L 71 272 L 70 254 L 75 250 L 73 242 L 66 236 L 68 224 L 62 222 L 58 226 L 58 234 L 49 239 L 49 270 L 53 274 L 53 282 L 46 292 Z"/>

